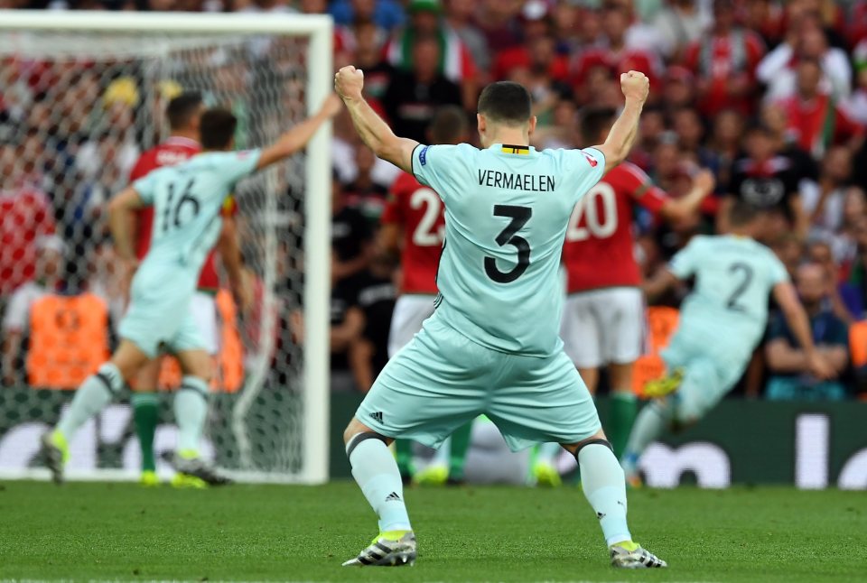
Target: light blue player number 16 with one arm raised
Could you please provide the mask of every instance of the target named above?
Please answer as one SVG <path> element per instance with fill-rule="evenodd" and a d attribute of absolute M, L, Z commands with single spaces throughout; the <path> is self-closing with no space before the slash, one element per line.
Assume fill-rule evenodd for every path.
<path fill-rule="evenodd" d="M 161 349 L 178 358 L 183 371 L 175 395 L 183 474 L 205 479 L 213 470 L 198 456 L 207 412 L 212 362 L 190 312 L 202 264 L 222 225 L 223 202 L 236 182 L 303 149 L 313 134 L 340 109 L 331 95 L 319 113 L 296 125 L 261 150 L 231 152 L 238 120 L 224 109 L 200 119 L 201 154 L 188 162 L 150 172 L 109 203 L 109 227 L 117 254 L 134 270 L 135 247 L 129 225 L 136 210 L 154 207 L 151 247 L 135 271 L 129 310 L 118 329 L 120 344 L 111 359 L 89 376 L 53 430 L 42 436 L 42 450 L 56 482 L 63 478 L 69 442 L 85 421 L 100 412 Z M 207 480 L 206 480 L 207 481 Z"/>

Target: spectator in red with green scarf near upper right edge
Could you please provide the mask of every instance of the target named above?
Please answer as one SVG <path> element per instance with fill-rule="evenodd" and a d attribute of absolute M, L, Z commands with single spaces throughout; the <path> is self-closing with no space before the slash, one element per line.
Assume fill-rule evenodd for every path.
<path fill-rule="evenodd" d="M 788 132 L 805 152 L 817 160 L 834 143 L 847 143 L 853 150 L 863 143 L 863 128 L 834 99 L 821 92 L 822 68 L 818 61 L 802 59 L 797 65 L 795 95 L 781 102 L 788 117 Z"/>

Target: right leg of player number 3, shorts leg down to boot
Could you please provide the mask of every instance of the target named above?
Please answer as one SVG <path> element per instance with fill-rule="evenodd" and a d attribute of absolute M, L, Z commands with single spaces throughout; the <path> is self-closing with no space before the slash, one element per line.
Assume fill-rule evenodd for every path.
<path fill-rule="evenodd" d="M 601 430 L 592 396 L 569 358 L 564 353 L 511 358 L 513 366 L 492 394 L 488 412 L 509 447 L 521 449 L 534 440 L 564 444 L 581 468 L 583 491 L 600 519 L 612 564 L 665 566 L 631 540 L 623 470 Z"/>

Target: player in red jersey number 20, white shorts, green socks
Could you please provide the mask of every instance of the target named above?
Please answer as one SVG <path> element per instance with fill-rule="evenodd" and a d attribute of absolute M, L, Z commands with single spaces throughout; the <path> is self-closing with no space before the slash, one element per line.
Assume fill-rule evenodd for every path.
<path fill-rule="evenodd" d="M 584 141 L 603 143 L 614 119 L 613 109 L 587 112 L 582 117 Z M 599 382 L 599 367 L 609 365 L 611 416 L 605 430 L 618 457 L 637 412 L 632 365 L 641 354 L 644 322 L 632 234 L 635 205 L 677 220 L 695 213 L 713 187 L 713 174 L 699 171 L 692 189 L 672 199 L 638 166 L 623 162 L 573 211 L 563 251 L 569 296 L 561 336 L 591 393 Z"/>

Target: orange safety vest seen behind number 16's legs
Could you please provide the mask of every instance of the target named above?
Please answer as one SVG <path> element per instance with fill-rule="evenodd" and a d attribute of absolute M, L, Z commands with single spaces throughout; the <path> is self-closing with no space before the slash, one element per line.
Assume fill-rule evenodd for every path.
<path fill-rule="evenodd" d="M 211 391 L 235 393 L 244 384 L 244 346 L 235 324 L 238 310 L 232 294 L 226 290 L 217 292 L 215 298 L 221 328 L 220 347 L 214 366 L 214 377 L 210 382 Z M 174 356 L 165 356 L 160 365 L 159 387 L 171 391 L 181 385 L 181 365 Z"/>

